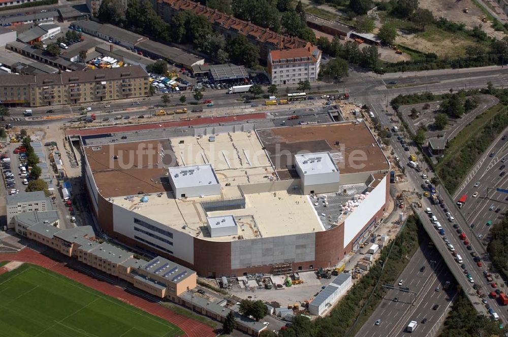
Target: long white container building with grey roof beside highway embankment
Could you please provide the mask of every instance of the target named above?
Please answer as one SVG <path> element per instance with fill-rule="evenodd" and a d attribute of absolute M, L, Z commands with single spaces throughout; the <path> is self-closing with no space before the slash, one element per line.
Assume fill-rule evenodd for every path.
<path fill-rule="evenodd" d="M 339 274 L 325 289 L 323 289 L 314 299 L 309 303 L 309 312 L 312 315 L 321 315 L 327 309 L 333 307 L 351 286 L 353 279 L 351 274 Z"/>

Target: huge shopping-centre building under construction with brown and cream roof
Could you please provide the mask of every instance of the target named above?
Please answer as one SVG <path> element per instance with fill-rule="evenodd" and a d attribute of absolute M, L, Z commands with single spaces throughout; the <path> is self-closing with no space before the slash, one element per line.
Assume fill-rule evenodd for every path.
<path fill-rule="evenodd" d="M 364 122 L 241 121 L 83 130 L 101 228 L 214 278 L 329 267 L 369 240 L 390 164 Z"/>

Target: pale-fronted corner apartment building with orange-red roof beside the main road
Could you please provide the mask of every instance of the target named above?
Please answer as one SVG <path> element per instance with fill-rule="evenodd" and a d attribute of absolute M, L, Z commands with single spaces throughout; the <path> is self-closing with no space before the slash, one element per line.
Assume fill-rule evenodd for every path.
<path fill-rule="evenodd" d="M 268 55 L 268 75 L 272 84 L 316 82 L 321 68 L 321 50 L 310 42 L 304 48 L 272 50 Z"/>

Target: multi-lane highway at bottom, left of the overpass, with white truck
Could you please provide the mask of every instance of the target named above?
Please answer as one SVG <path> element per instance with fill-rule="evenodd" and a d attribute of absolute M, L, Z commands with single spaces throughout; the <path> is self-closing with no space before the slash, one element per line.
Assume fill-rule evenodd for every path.
<path fill-rule="evenodd" d="M 357 337 L 388 337 L 405 333 L 410 321 L 417 321 L 418 327 L 411 335 L 426 336 L 445 314 L 456 295 L 453 276 L 442 261 L 435 248 L 429 248 L 429 241 L 421 244 L 412 256 L 398 280 L 403 280 L 402 287 L 412 292 L 391 289 L 377 306 L 369 320 L 356 334 Z M 433 261 L 433 262 L 431 262 Z M 425 267 L 423 272 L 420 268 Z M 448 290 L 442 290 L 447 281 L 451 282 Z M 398 281 L 397 281 L 398 282 Z M 398 283 L 393 285 L 398 288 Z M 439 287 L 439 291 L 435 289 Z M 397 301 L 395 301 L 397 298 Z M 438 305 L 436 310 L 433 307 Z M 421 323 L 426 318 L 425 323 Z M 376 320 L 381 323 L 375 325 Z"/>

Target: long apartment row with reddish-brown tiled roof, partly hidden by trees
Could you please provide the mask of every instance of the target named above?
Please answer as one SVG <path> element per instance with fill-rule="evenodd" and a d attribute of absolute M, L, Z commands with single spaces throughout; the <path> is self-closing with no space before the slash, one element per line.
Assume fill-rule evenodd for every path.
<path fill-rule="evenodd" d="M 307 44 L 305 40 L 281 35 L 198 2 L 190 0 L 151 0 L 151 2 L 157 14 L 167 22 L 171 22 L 171 17 L 175 13 L 187 10 L 206 17 L 214 28 L 224 35 L 232 38 L 239 34 L 244 35 L 250 42 L 259 46 L 262 60 L 266 60 L 270 50 L 301 48 Z"/>

